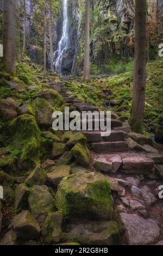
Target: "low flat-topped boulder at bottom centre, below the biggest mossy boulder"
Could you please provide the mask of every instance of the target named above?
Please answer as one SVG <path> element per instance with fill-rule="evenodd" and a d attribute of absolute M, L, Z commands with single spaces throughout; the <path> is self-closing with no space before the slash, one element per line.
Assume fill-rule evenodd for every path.
<path fill-rule="evenodd" d="M 120 245 L 120 231 L 113 221 L 89 221 L 71 224 L 67 233 L 62 233 L 63 241 L 79 242 L 80 245 Z"/>

